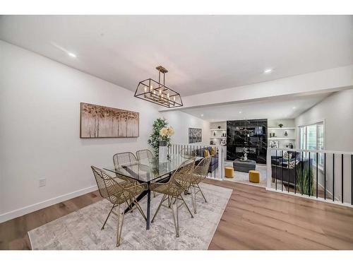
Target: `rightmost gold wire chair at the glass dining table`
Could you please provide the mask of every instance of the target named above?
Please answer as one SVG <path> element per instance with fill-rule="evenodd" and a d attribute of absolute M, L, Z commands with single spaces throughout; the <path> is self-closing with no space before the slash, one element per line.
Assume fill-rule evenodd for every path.
<path fill-rule="evenodd" d="M 198 192 L 201 192 L 203 199 L 205 199 L 205 202 L 207 202 L 205 194 L 203 194 L 203 191 L 199 184 L 203 181 L 203 179 L 207 177 L 211 159 L 212 156 L 208 155 L 193 168 L 193 175 L 191 177 L 191 199 L 193 202 L 193 213 L 196 213 L 196 194 L 198 194 Z"/>

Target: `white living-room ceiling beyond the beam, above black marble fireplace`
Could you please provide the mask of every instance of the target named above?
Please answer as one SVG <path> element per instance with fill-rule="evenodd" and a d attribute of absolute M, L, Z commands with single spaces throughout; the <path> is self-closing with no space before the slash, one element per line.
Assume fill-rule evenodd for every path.
<path fill-rule="evenodd" d="M 234 119 L 294 119 L 299 114 L 318 104 L 330 93 L 305 96 L 277 97 L 270 100 L 256 100 L 229 105 L 193 107 L 182 110 L 208 122 L 222 122 Z"/>

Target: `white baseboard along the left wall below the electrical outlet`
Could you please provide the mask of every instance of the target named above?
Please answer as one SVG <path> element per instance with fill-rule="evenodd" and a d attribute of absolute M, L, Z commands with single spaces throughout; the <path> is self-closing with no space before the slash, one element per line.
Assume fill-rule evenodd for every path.
<path fill-rule="evenodd" d="M 48 206 L 52 206 L 53 204 L 58 204 L 61 201 L 66 201 L 68 199 L 72 199 L 72 198 L 75 198 L 77 196 L 89 193 L 89 192 L 94 192 L 95 190 L 97 190 L 97 186 L 96 185 L 88 187 L 88 188 L 84 188 L 84 189 L 79 189 L 76 192 L 70 192 L 68 194 L 57 196 L 57 197 L 52 198 L 52 199 L 41 201 L 41 202 L 39 202 L 37 204 L 32 204 L 30 206 L 25 206 L 23 208 L 19 208 L 19 209 L 16 209 L 14 211 L 9 211 L 7 213 L 0 214 L 0 223 L 4 223 L 7 220 L 11 220 L 11 219 L 19 217 L 19 216 L 24 216 L 27 213 L 32 213 L 33 211 L 37 211 L 37 210 L 40 210 L 42 208 L 45 208 L 45 207 L 48 207 Z"/>

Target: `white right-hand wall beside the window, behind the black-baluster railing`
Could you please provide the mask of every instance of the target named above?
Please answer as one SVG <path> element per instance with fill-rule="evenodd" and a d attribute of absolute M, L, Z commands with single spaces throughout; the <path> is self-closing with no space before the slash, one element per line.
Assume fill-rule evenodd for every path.
<path fill-rule="evenodd" d="M 324 121 L 325 150 L 353 152 L 353 89 L 335 92 L 295 119 L 298 126 Z M 297 129 L 297 131 L 299 131 Z M 326 157 L 326 189 L 333 192 L 333 155 Z M 350 203 L 351 163 L 350 155 L 344 162 L 344 200 Z M 342 194 L 342 157 L 335 155 L 335 199 Z M 324 186 L 323 170 L 318 172 L 318 184 Z"/>

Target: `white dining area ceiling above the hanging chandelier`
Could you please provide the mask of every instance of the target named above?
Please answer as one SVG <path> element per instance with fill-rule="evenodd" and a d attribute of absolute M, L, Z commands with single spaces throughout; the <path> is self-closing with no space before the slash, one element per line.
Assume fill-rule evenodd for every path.
<path fill-rule="evenodd" d="M 133 91 L 162 65 L 182 96 L 353 64 L 353 16 L 1 16 L 0 39 Z"/>

